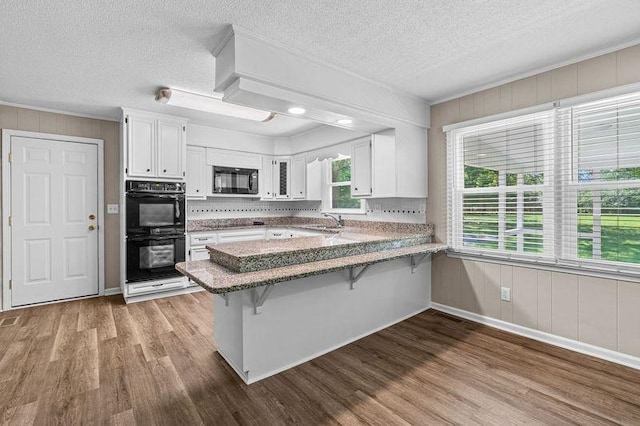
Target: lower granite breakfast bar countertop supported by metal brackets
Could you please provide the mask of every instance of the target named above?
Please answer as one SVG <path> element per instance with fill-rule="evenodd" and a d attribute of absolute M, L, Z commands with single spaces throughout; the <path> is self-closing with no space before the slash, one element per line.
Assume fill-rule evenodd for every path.
<path fill-rule="evenodd" d="M 363 267 L 417 254 L 435 253 L 446 248 L 443 244 L 419 244 L 253 272 L 234 272 L 208 260 L 178 263 L 176 269 L 210 293 L 224 294 L 350 267 Z"/>

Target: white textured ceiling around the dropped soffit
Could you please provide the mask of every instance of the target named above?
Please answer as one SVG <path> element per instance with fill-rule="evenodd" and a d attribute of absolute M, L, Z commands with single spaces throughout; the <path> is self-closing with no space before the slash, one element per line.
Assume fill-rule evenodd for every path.
<path fill-rule="evenodd" d="M 0 100 L 115 118 L 119 106 L 276 135 L 153 101 L 162 86 L 207 93 L 228 24 L 428 100 L 640 37 L 638 0 L 3 0 Z"/>

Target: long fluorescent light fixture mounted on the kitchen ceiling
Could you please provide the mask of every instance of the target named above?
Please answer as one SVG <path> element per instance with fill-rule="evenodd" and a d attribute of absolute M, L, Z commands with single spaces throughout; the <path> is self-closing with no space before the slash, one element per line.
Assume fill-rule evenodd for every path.
<path fill-rule="evenodd" d="M 158 90 L 158 93 L 156 93 L 156 101 L 181 108 L 211 112 L 213 114 L 227 115 L 245 120 L 265 122 L 275 116 L 275 113 L 270 111 L 224 102 L 222 95 L 218 93 L 214 96 L 206 96 L 198 93 L 185 92 L 183 90 L 165 88 Z"/>

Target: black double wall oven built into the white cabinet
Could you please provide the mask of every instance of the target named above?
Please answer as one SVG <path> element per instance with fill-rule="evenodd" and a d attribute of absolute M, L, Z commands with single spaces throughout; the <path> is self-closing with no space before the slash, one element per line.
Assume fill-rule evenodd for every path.
<path fill-rule="evenodd" d="M 185 260 L 185 186 L 127 181 L 127 282 L 178 277 Z"/>

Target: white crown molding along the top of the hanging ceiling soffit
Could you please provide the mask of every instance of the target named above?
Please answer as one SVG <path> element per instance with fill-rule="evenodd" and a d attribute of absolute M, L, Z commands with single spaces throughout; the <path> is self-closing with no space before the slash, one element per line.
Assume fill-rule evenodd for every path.
<path fill-rule="evenodd" d="M 413 93 L 406 92 L 404 90 L 398 89 L 398 88 L 390 86 L 388 84 L 384 84 L 384 83 L 381 83 L 379 81 L 372 80 L 372 79 L 370 79 L 368 77 L 364 77 L 364 76 L 362 76 L 360 74 L 357 74 L 357 73 L 355 73 L 353 71 L 347 70 L 347 69 L 345 69 L 343 67 L 340 67 L 338 65 L 335 65 L 335 64 L 332 64 L 330 62 L 326 62 L 326 61 L 323 61 L 321 59 L 318 59 L 317 57 L 312 56 L 312 55 L 310 55 L 309 53 L 307 53 L 307 52 L 305 52 L 303 50 L 296 49 L 294 47 L 287 46 L 285 44 L 282 44 L 280 42 L 274 41 L 274 40 L 269 39 L 267 37 L 255 34 L 255 33 L 251 32 L 251 31 L 248 31 L 248 30 L 246 30 L 246 29 L 244 29 L 244 28 L 242 28 L 242 27 L 240 27 L 238 25 L 232 25 L 231 26 L 231 29 L 230 29 L 229 33 L 225 34 L 225 38 L 223 39 L 223 43 L 220 43 L 219 46 L 214 51 L 219 54 L 220 51 L 222 51 L 224 46 L 229 42 L 229 40 L 232 38 L 232 36 L 234 34 L 239 34 L 239 35 L 242 35 L 244 37 L 251 38 L 253 40 L 259 41 L 259 42 L 264 43 L 264 44 L 267 44 L 267 45 L 269 45 L 269 46 L 271 46 L 271 47 L 273 47 L 275 49 L 278 49 L 278 50 L 284 51 L 286 53 L 289 53 L 289 54 L 291 54 L 293 56 L 299 56 L 299 57 L 304 58 L 304 59 L 306 59 L 308 61 L 314 62 L 314 63 L 316 63 L 318 65 L 322 65 L 322 66 L 331 68 L 331 69 L 333 69 L 335 71 L 339 71 L 341 73 L 348 74 L 351 77 L 358 78 L 358 79 L 360 79 L 362 81 L 366 81 L 366 82 L 368 82 L 370 84 L 376 85 L 376 86 L 378 86 L 380 88 L 383 88 L 385 90 L 389 90 L 389 91 L 391 91 L 391 92 L 393 92 L 395 94 L 398 94 L 400 96 L 405 96 L 407 98 L 411 98 L 411 99 L 414 99 L 416 101 L 424 102 L 424 103 L 426 103 L 426 106 L 429 106 L 431 104 L 431 102 L 428 99 L 422 98 L 420 96 L 414 95 Z M 214 56 L 216 56 L 216 55 L 214 55 Z"/>

